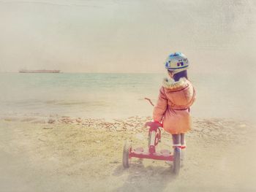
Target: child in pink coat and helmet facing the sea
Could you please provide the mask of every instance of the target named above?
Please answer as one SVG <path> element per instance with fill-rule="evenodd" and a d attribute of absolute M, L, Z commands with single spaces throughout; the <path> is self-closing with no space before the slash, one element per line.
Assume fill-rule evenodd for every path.
<path fill-rule="evenodd" d="M 184 134 L 191 129 L 192 120 L 189 107 L 195 101 L 195 88 L 188 80 L 189 61 L 182 53 L 172 53 L 165 61 L 165 69 L 170 78 L 165 78 L 154 107 L 153 119 L 162 122 L 162 127 L 172 134 L 173 147 L 181 148 L 184 160 L 186 142 Z"/>

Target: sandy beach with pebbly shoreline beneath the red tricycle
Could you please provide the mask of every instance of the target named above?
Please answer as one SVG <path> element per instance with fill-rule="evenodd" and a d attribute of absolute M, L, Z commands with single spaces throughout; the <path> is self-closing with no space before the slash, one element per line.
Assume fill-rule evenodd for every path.
<path fill-rule="evenodd" d="M 255 191 L 253 126 L 194 118 L 178 177 L 164 161 L 132 159 L 125 140 L 146 147 L 150 117 L 104 120 L 51 116 L 0 120 L 0 191 Z M 170 149 L 163 133 L 159 148 Z"/>

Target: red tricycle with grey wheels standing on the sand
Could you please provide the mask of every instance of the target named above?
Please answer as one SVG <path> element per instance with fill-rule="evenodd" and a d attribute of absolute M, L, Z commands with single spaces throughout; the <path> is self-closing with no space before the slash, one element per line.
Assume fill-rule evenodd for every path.
<path fill-rule="evenodd" d="M 170 150 L 160 150 L 157 152 L 157 145 L 161 141 L 161 127 L 158 123 L 147 122 L 148 126 L 148 149 L 143 147 L 132 149 L 130 142 L 125 142 L 123 151 L 123 166 L 128 168 L 132 158 L 149 158 L 154 160 L 173 161 L 173 173 L 178 174 L 181 166 L 181 148 L 175 147 L 173 155 Z"/>

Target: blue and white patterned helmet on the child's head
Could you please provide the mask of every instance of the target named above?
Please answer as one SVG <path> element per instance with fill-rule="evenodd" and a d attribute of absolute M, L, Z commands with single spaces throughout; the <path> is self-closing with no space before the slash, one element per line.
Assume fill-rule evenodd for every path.
<path fill-rule="evenodd" d="M 180 52 L 171 53 L 165 61 L 165 69 L 174 74 L 187 70 L 188 67 L 189 61 L 187 60 L 187 56 Z"/>

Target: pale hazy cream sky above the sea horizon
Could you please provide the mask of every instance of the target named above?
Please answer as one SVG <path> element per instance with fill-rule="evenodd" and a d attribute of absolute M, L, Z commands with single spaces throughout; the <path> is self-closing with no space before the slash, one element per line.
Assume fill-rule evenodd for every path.
<path fill-rule="evenodd" d="M 0 0 L 0 72 L 252 72 L 254 0 Z M 249 69 L 249 70 L 248 70 Z"/>

